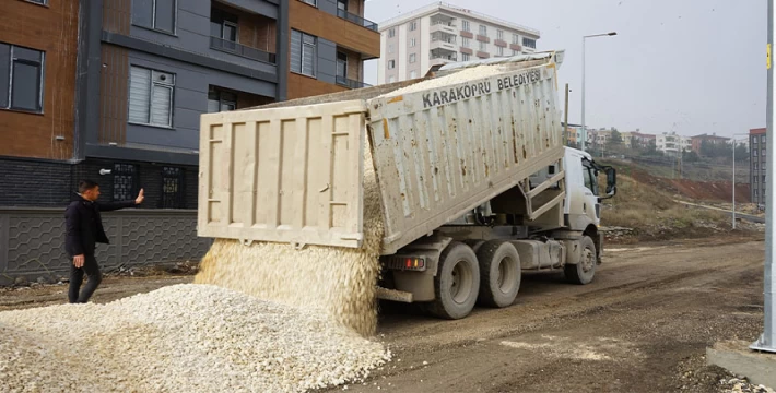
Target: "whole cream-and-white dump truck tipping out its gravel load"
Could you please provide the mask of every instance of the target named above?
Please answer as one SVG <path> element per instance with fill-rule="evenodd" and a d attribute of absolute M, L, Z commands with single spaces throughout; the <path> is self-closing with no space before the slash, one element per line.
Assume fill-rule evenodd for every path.
<path fill-rule="evenodd" d="M 562 57 L 452 63 L 419 80 L 203 115 L 198 235 L 360 248 L 372 165 L 385 223 L 379 298 L 460 319 L 477 303 L 514 303 L 524 271 L 588 284 L 616 174 L 563 144 Z"/>

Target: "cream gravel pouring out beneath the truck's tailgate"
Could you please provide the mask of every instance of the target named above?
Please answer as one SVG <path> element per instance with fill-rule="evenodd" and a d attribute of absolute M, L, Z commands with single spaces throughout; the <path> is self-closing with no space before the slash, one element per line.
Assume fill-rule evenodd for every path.
<path fill-rule="evenodd" d="M 364 241 L 361 249 L 217 239 L 195 283 L 214 284 L 261 299 L 315 310 L 363 335 L 377 326 L 383 207 L 366 142 Z"/>

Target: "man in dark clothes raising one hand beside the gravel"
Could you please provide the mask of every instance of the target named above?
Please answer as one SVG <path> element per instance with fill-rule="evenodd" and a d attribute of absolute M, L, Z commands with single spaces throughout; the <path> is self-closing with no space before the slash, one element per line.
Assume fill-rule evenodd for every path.
<path fill-rule="evenodd" d="M 144 196 L 143 190 L 140 189 L 134 201 L 97 203 L 99 186 L 96 182 L 81 180 L 78 189 L 79 199 L 71 202 L 64 212 L 64 250 L 73 259 L 73 264 L 70 265 L 68 299 L 71 303 L 85 303 L 103 281 L 99 265 L 94 258 L 94 250 L 98 242 L 109 243 L 99 212 L 110 212 L 141 204 Z M 81 291 L 84 273 L 86 273 L 89 282 Z M 80 295 L 79 291 L 81 291 Z"/>

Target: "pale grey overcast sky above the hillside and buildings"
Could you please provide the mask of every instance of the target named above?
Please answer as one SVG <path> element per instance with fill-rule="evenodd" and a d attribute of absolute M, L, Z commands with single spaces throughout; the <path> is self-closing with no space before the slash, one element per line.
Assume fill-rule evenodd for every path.
<path fill-rule="evenodd" d="M 450 0 L 541 32 L 538 50 L 565 49 L 559 98 L 580 122 L 581 36 L 587 39 L 588 128 L 732 135 L 765 127 L 766 2 L 761 0 Z M 383 22 L 431 1 L 367 0 Z M 377 62 L 365 82 L 376 84 Z"/>

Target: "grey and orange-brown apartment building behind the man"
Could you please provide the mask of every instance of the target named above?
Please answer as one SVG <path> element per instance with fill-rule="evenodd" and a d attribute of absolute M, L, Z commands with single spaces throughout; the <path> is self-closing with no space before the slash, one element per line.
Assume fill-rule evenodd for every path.
<path fill-rule="evenodd" d="M 196 209 L 200 116 L 363 86 L 364 3 L 2 1 L 0 206 L 61 206 L 89 177 Z"/>

